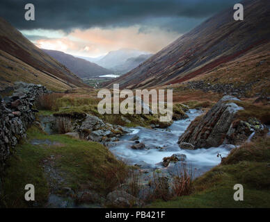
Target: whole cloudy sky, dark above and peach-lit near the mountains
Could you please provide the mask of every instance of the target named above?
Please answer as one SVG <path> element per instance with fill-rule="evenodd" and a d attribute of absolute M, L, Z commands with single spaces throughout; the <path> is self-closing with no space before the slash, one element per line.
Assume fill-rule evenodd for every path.
<path fill-rule="evenodd" d="M 156 53 L 236 0 L 1 0 L 0 16 L 36 46 L 97 57 L 118 49 Z M 35 21 L 24 19 L 33 3 Z"/>

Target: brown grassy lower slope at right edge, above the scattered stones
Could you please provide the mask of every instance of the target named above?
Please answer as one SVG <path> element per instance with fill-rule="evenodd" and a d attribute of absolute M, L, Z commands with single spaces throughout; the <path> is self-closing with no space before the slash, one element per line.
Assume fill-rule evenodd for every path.
<path fill-rule="evenodd" d="M 212 71 L 192 80 L 204 80 L 205 83 L 232 83 L 235 87 L 241 87 L 248 83 L 254 83 L 248 96 L 256 94 L 270 94 L 269 65 L 270 55 L 265 49 L 270 48 L 270 42 L 263 46 L 257 46 L 244 56 L 231 62 L 217 66 Z M 177 85 L 175 85 L 177 87 Z"/>

